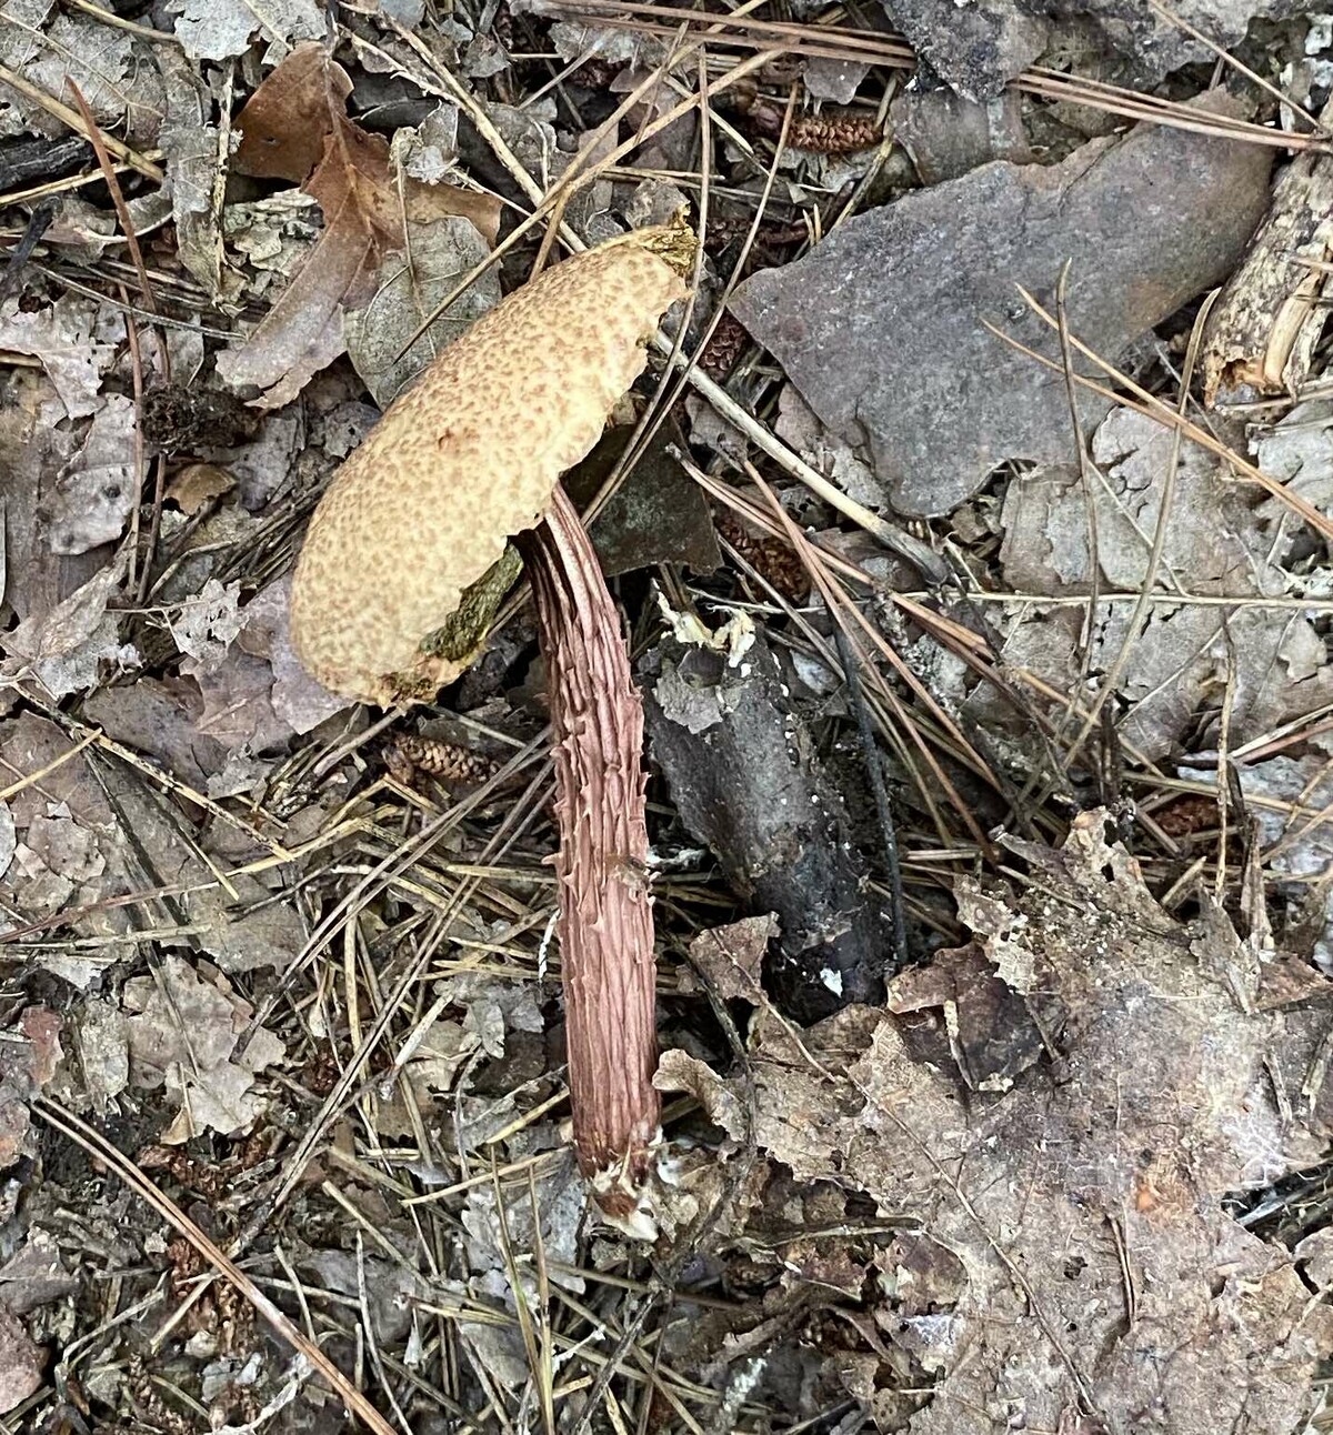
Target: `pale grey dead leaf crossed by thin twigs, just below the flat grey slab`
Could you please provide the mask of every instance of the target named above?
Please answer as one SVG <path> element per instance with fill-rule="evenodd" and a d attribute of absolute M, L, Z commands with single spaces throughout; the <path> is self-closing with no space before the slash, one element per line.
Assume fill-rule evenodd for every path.
<path fill-rule="evenodd" d="M 1273 509 L 1231 482 L 1225 465 L 1187 445 L 1154 419 L 1112 409 L 1092 436 L 1101 479 L 1088 489 L 1072 468 L 1036 469 L 1014 478 L 1004 497 L 1000 564 L 1013 591 L 1068 597 L 1138 593 L 1148 578 L 1152 537 L 1165 522 L 1155 574 L 1157 597 L 1131 631 L 1134 603 L 1101 601 L 1083 636 L 1075 607 L 1033 603 L 1002 620 L 1002 657 L 1010 672 L 1035 673 L 1062 693 L 1088 693 L 1080 644 L 1089 669 L 1108 672 L 1131 640 L 1119 674 L 1121 738 L 1149 759 L 1187 740 L 1207 720 L 1211 736 L 1225 702 L 1230 740 L 1248 742 L 1280 723 L 1316 712 L 1333 696 L 1333 666 L 1314 621 L 1253 597 L 1297 594 L 1301 580 L 1283 567 L 1286 544 Z M 1175 465 L 1169 511 L 1161 514 L 1168 465 Z M 1281 466 L 1277 472 L 1287 476 Z M 1316 474 L 1293 486 L 1314 495 Z M 1096 570 L 1088 544 L 1096 530 Z M 1207 596 L 1200 603 L 1197 596 Z M 1218 604 L 1231 598 L 1234 606 Z M 969 710 L 1020 732 L 1023 719 L 981 686 Z"/>

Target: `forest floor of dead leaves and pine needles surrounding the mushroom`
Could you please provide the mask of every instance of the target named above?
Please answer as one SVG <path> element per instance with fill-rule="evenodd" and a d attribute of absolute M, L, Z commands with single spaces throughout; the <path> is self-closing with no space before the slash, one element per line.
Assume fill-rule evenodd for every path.
<path fill-rule="evenodd" d="M 1179 393 L 1211 286 L 1284 333 L 1327 26 L 1179 13 L 1278 99 L 1155 7 L 888 4 L 917 83 L 825 9 L 0 4 L 16 1429 L 1327 1424 L 1317 231 L 1287 392 Z M 687 387 L 568 479 L 659 762 L 649 1246 L 570 1149 L 524 594 L 415 713 L 287 608 L 423 366 L 682 205 Z"/>

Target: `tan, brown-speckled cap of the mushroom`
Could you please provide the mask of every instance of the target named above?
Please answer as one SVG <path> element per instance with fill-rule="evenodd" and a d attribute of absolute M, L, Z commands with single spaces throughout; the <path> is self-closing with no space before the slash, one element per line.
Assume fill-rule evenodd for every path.
<path fill-rule="evenodd" d="M 636 231 L 547 270 L 389 406 L 334 475 L 297 561 L 291 637 L 313 677 L 387 706 L 468 666 L 472 653 L 426 640 L 505 541 L 541 521 L 643 373 L 647 339 L 687 293 L 654 253 L 679 251 L 679 234 L 673 245 L 672 227 Z"/>

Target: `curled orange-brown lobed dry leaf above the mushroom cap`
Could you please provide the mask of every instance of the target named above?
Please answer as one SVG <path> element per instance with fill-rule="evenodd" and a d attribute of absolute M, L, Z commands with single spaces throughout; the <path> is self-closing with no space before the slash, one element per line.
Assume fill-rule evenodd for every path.
<path fill-rule="evenodd" d="M 290 403 L 344 349 L 343 314 L 363 304 L 390 253 L 405 244 L 403 205 L 413 220 L 461 215 L 494 244 L 498 201 L 452 185 L 403 179 L 389 145 L 347 116 L 352 82 L 321 44 L 303 44 L 264 80 L 241 110 L 238 174 L 290 179 L 316 199 L 324 228 L 260 326 L 218 359 L 234 387 L 263 390 L 258 408 Z"/>

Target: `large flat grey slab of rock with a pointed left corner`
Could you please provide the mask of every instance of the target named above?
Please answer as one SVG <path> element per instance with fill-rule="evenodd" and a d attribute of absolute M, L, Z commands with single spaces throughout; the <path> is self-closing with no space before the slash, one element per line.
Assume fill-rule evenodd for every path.
<path fill-rule="evenodd" d="M 1053 309 L 1070 261 L 1070 327 L 1115 360 L 1234 268 L 1270 165 L 1266 148 L 1157 126 L 1049 168 L 983 165 L 858 215 L 730 307 L 815 413 L 865 446 L 887 504 L 946 514 L 1006 459 L 1072 453 L 1062 377 L 984 327 L 1058 354 L 1016 286 Z"/>

